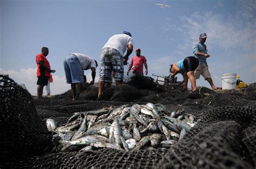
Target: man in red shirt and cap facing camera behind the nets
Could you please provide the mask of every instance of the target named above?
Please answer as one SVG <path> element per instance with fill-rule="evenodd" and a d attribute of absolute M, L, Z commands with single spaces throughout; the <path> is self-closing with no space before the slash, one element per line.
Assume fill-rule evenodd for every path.
<path fill-rule="evenodd" d="M 143 75 L 143 64 L 145 66 L 145 74 L 147 74 L 147 60 L 144 56 L 140 55 L 140 48 L 136 48 L 136 55 L 132 57 L 131 65 L 128 69 L 127 75 L 129 75 L 130 70 L 132 69 L 133 74 Z"/>

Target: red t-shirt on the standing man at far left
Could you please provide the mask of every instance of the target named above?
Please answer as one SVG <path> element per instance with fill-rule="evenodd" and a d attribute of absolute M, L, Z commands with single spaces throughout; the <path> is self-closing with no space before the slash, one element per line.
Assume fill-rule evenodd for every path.
<path fill-rule="evenodd" d="M 41 76 L 41 75 L 50 77 L 51 75 L 49 73 L 49 70 L 45 70 L 45 68 L 41 67 L 38 64 L 38 61 L 42 61 L 44 66 L 51 69 L 49 61 L 46 59 L 46 57 L 42 53 L 39 53 L 38 55 L 36 55 L 36 65 L 37 65 L 36 75 L 37 75 L 37 77 Z"/>

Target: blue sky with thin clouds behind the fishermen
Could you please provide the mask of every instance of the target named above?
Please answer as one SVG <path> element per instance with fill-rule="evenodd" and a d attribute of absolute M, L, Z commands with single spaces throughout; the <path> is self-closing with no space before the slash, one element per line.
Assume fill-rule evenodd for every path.
<path fill-rule="evenodd" d="M 173 8 L 161 9 L 153 3 Z M 0 15 L 0 73 L 24 83 L 32 95 L 36 94 L 35 57 L 41 47 L 49 48 L 47 58 L 56 70 L 51 94 L 59 94 L 70 88 L 63 68 L 66 55 L 84 53 L 99 62 L 106 41 L 124 30 L 132 33 L 134 47 L 142 49 L 150 76 L 168 75 L 170 64 L 193 55 L 193 44 L 206 32 L 211 55 L 207 62 L 215 86 L 221 86 L 224 73 L 256 82 L 254 0 L 0 0 Z M 129 61 L 133 55 L 135 51 Z M 98 75 L 99 68 L 96 79 Z M 197 86 L 210 88 L 203 78 Z"/>

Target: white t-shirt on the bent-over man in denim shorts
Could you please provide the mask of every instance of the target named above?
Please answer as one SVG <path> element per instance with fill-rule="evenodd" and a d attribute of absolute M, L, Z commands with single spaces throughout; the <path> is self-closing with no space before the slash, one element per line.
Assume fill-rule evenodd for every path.
<path fill-rule="evenodd" d="M 83 70 L 91 69 L 92 67 L 96 68 L 96 62 L 89 56 L 82 53 L 71 53 L 77 56 L 80 61 Z"/>

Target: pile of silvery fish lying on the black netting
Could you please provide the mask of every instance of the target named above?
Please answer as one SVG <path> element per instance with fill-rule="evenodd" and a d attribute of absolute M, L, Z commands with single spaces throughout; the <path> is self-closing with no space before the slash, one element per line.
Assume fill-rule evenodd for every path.
<path fill-rule="evenodd" d="M 53 133 L 52 152 L 169 148 L 196 123 L 184 109 L 169 112 L 163 104 L 152 103 L 75 112 L 63 126 L 46 121 Z"/>

